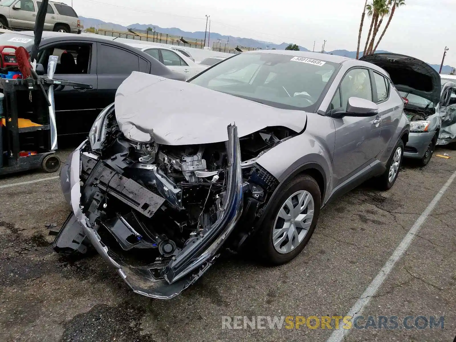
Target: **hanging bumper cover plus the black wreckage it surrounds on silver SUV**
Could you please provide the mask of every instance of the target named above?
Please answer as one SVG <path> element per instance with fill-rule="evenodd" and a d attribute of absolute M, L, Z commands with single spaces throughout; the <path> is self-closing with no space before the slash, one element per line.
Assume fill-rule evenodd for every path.
<path fill-rule="evenodd" d="M 84 142 L 62 169 L 73 213 L 54 248 L 85 253 L 92 245 L 135 292 L 172 298 L 212 265 L 242 213 L 237 127 L 228 126 L 214 167 L 192 171 L 202 160 L 187 155 L 178 166 L 184 171 L 174 177 L 169 171 L 176 159 L 118 135 L 99 154 Z M 179 177 L 193 182 L 176 186 Z"/>

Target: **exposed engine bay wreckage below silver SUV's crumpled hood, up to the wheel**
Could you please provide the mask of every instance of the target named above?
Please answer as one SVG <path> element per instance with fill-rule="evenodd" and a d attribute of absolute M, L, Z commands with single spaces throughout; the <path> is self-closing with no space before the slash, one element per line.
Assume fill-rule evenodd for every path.
<path fill-rule="evenodd" d="M 102 130 L 101 144 L 80 148 L 80 218 L 72 189 L 76 218 L 54 249 L 86 253 L 92 244 L 135 292 L 156 298 L 197 280 L 222 245 L 241 247 L 278 184 L 255 160 L 296 135 L 269 127 L 238 138 L 230 125 L 227 142 L 138 143 L 119 130 L 114 108 Z M 83 223 L 76 235 L 65 229 L 75 221 Z"/>

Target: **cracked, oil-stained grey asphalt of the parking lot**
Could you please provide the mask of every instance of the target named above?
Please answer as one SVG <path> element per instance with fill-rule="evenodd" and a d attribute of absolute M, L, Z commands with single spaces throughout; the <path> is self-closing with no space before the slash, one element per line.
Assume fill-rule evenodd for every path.
<path fill-rule="evenodd" d="M 221 257 L 169 301 L 134 294 L 96 254 L 67 259 L 53 253 L 45 224 L 61 226 L 70 212 L 57 178 L 3 187 L 0 341 L 326 341 L 328 327 L 222 329 L 222 317 L 345 316 L 456 171 L 456 151 L 436 150 L 443 153 L 451 158 L 434 155 L 423 168 L 405 162 L 388 192 L 367 183 L 337 199 L 290 263 L 266 267 Z M 57 174 L 22 173 L 1 178 L 0 186 L 50 176 Z M 398 328 L 352 328 L 345 341 L 453 341 L 455 202 L 456 181 L 361 313 L 362 325 L 368 316 L 398 316 Z M 406 316 L 445 321 L 443 328 L 404 329 Z"/>

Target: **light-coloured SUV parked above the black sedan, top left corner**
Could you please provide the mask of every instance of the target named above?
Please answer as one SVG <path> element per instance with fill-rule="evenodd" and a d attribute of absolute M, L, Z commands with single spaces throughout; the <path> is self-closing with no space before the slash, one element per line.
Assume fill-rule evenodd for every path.
<path fill-rule="evenodd" d="M 0 2 L 0 25 L 4 28 L 33 30 L 41 1 L 3 0 Z M 81 33 L 81 22 L 71 6 L 49 1 L 45 31 Z"/>

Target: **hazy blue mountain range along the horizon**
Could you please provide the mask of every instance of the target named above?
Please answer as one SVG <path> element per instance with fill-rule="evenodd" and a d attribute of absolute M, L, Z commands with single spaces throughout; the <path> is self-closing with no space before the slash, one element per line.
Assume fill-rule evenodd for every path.
<path fill-rule="evenodd" d="M 113 30 L 113 31 L 127 31 L 127 29 L 135 29 L 135 31 L 146 31 L 148 27 L 152 27 L 155 29 L 157 32 L 161 32 L 163 34 L 169 34 L 171 36 L 181 36 L 184 38 L 193 38 L 193 39 L 204 39 L 205 32 L 204 31 L 196 31 L 196 32 L 189 32 L 189 31 L 182 31 L 180 28 L 177 27 L 160 27 L 157 25 L 153 24 L 131 24 L 129 26 L 122 26 L 119 24 L 114 24 L 112 22 L 105 22 L 99 19 L 95 18 L 86 18 L 83 16 L 80 16 L 79 19 L 81 20 L 81 23 L 83 24 L 84 28 L 89 28 L 89 27 L 96 27 L 98 28 L 100 25 L 102 28 L 106 30 Z M 252 38 L 241 38 L 241 37 L 234 37 L 234 36 L 224 36 L 216 32 L 211 32 L 210 35 L 211 41 L 218 41 L 220 39 L 220 43 L 223 46 L 225 43 L 228 43 L 229 46 L 231 47 L 256 47 L 260 48 L 263 50 L 266 49 L 276 49 L 276 50 L 285 50 L 285 47 L 287 47 L 290 43 L 281 43 L 281 44 L 275 44 L 271 43 L 268 41 L 258 41 L 256 39 Z M 307 49 L 306 47 L 301 47 L 299 46 L 300 51 L 311 51 Z M 316 51 L 320 52 L 321 48 L 316 47 Z M 389 52 L 385 50 L 377 50 L 377 52 Z M 337 55 L 337 56 L 344 56 L 344 57 L 350 57 L 350 58 L 355 58 L 356 57 L 356 51 L 348 51 L 348 50 L 333 50 L 333 51 L 325 51 L 325 53 L 332 54 L 332 55 Z M 361 52 L 361 55 L 363 53 Z M 428 63 L 431 67 L 433 67 L 436 71 L 439 71 L 440 69 L 440 64 L 430 64 Z M 451 73 L 451 70 L 453 67 L 449 65 L 445 65 L 442 68 L 442 73 L 444 74 L 449 74 Z"/>

